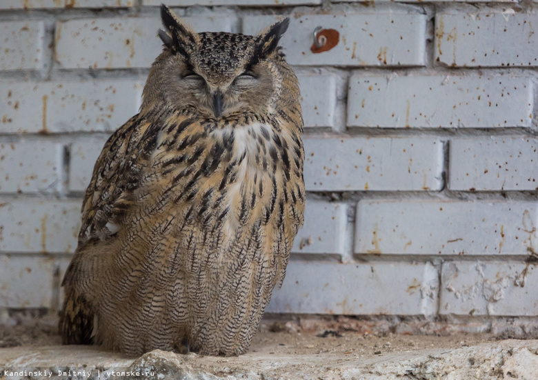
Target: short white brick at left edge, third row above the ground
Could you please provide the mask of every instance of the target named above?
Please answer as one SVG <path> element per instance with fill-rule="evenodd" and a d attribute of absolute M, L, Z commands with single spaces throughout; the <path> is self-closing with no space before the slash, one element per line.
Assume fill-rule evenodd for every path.
<path fill-rule="evenodd" d="M 59 143 L 0 143 L 0 192 L 61 190 L 62 159 Z"/>

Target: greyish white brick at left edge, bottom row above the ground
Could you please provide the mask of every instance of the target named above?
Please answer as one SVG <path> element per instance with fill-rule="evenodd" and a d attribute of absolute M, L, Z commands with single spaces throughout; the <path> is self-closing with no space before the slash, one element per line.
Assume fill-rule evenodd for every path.
<path fill-rule="evenodd" d="M 0 308 L 50 308 L 54 258 L 0 254 Z"/>

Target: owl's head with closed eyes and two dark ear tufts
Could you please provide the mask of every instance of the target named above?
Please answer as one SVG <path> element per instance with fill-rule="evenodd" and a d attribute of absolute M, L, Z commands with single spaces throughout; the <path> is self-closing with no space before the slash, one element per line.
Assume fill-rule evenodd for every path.
<path fill-rule="evenodd" d="M 289 19 L 246 36 L 193 32 L 164 5 L 161 18 L 164 48 L 153 63 L 142 108 L 162 104 L 210 119 L 271 112 L 283 90 L 282 65 L 288 68 L 278 43 Z"/>

